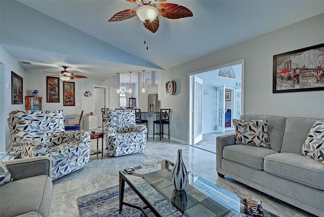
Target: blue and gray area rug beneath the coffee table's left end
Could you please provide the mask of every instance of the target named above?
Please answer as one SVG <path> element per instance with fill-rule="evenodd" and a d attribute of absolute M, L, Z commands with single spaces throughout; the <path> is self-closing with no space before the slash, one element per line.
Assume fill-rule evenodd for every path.
<path fill-rule="evenodd" d="M 119 214 L 119 186 L 113 186 L 104 190 L 97 191 L 78 197 L 77 207 L 79 215 L 83 216 L 145 216 L 142 211 L 123 205 L 123 211 Z M 144 207 L 145 203 L 129 186 L 125 186 L 124 202 L 132 203 Z M 149 209 L 145 210 L 150 212 Z M 155 216 L 149 213 L 150 216 Z"/>

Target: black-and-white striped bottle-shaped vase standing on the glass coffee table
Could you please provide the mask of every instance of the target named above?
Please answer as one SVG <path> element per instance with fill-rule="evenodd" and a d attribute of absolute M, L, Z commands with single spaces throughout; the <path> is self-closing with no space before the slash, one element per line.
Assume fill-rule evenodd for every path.
<path fill-rule="evenodd" d="M 182 150 L 178 149 L 177 161 L 172 171 L 172 183 L 176 190 L 182 191 L 187 185 L 188 174 L 182 160 Z"/>

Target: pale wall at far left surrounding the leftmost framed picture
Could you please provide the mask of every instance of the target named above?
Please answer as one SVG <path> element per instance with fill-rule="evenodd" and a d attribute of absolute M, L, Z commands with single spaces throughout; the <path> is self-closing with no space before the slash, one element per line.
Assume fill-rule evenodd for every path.
<path fill-rule="evenodd" d="M 21 67 L 21 65 L 2 46 L 0 46 L 0 62 L 3 64 L 4 68 L 2 72 L 4 73 L 4 75 L 1 75 L 2 84 L 5 84 L 5 86 L 1 86 L 2 96 L 0 97 L 0 102 L 2 103 L 2 105 L 3 103 L 5 104 L 5 106 L 1 106 L 4 107 L 4 109 L 1 109 L 0 111 L 0 122 L 2 123 L 0 128 L 0 134 L 2 134 L 2 136 L 0 137 L 0 152 L 4 152 L 10 147 L 11 144 L 9 128 L 7 124 L 9 113 L 14 110 L 24 110 L 25 108 L 25 100 L 23 100 L 23 104 L 11 104 L 11 87 L 7 87 L 7 84 L 11 85 L 11 71 L 14 71 L 17 75 L 23 78 L 23 90 L 26 86 L 26 80 L 25 70 L 23 69 L 23 67 Z"/>

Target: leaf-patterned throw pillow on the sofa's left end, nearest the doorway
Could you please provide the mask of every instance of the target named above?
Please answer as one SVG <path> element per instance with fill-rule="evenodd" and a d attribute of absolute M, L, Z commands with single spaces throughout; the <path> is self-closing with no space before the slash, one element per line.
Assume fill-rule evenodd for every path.
<path fill-rule="evenodd" d="M 266 119 L 252 121 L 233 119 L 233 123 L 236 144 L 250 144 L 270 149 Z"/>

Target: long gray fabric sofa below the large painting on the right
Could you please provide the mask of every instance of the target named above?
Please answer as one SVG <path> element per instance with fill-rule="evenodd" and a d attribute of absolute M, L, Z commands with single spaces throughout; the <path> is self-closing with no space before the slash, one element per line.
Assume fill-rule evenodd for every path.
<path fill-rule="evenodd" d="M 235 144 L 235 134 L 216 138 L 216 170 L 315 215 L 324 215 L 324 164 L 301 155 L 316 120 L 242 115 L 242 120 L 268 120 L 271 149 Z"/>

